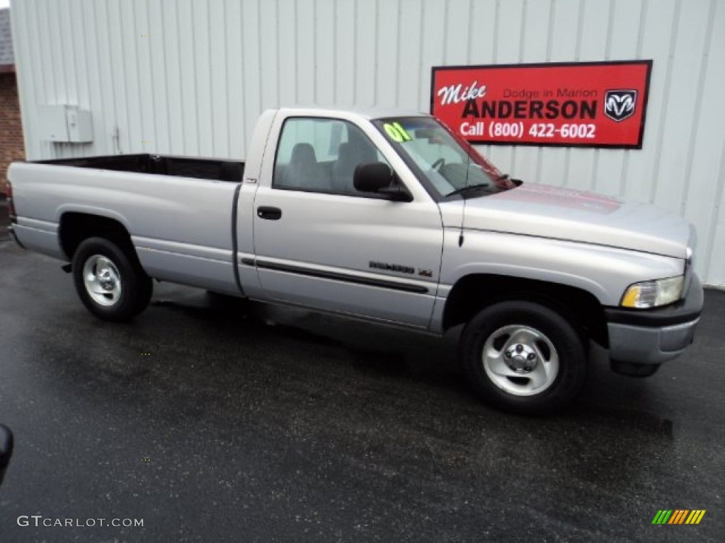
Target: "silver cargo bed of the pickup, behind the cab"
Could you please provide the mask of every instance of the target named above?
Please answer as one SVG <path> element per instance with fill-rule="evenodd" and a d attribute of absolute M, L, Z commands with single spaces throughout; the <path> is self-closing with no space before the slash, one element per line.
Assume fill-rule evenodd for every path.
<path fill-rule="evenodd" d="M 244 162 L 133 154 L 16 162 L 9 173 L 25 247 L 70 260 L 58 243 L 64 221 L 104 217 L 128 232 L 150 277 L 240 292 L 233 231 Z"/>

